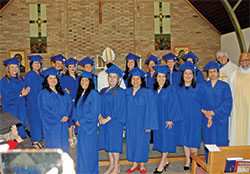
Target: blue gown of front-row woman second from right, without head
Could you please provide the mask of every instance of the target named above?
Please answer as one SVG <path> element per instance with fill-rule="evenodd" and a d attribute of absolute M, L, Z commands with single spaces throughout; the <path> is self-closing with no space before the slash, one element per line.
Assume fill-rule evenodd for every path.
<path fill-rule="evenodd" d="M 187 90 L 185 85 L 182 87 L 178 85 L 177 92 L 180 97 L 180 109 L 184 120 L 183 127 L 180 127 L 177 131 L 183 140 L 181 143 L 187 147 L 200 148 L 202 118 L 200 88 L 198 85 L 195 88 L 191 85 Z"/>

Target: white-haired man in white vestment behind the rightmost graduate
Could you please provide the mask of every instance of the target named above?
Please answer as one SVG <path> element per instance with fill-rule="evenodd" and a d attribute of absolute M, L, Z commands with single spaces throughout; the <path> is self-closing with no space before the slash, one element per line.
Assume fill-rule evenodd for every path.
<path fill-rule="evenodd" d="M 232 73 L 238 69 L 238 66 L 231 62 L 226 52 L 218 51 L 216 53 L 218 63 L 222 65 L 220 68 L 219 80 L 230 83 Z"/>

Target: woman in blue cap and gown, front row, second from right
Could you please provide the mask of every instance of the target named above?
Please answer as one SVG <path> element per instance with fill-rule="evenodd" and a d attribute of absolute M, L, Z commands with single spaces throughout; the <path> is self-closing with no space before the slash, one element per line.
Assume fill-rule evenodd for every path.
<path fill-rule="evenodd" d="M 184 128 L 183 139 L 186 163 L 184 170 L 190 168 L 190 153 L 197 153 L 201 143 L 202 98 L 199 86 L 195 82 L 196 65 L 187 61 L 179 66 L 182 71 L 181 81 L 177 86 Z"/>

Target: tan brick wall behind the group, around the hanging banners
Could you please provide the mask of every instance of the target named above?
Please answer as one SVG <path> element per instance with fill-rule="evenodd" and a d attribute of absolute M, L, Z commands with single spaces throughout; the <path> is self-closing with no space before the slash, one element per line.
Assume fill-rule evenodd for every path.
<path fill-rule="evenodd" d="M 200 66 L 214 59 L 220 48 L 220 35 L 185 0 L 168 1 L 172 47 L 189 45 L 200 58 Z M 99 24 L 97 0 L 14 0 L 0 13 L 0 61 L 9 57 L 9 49 L 25 49 L 30 54 L 30 3 L 47 4 L 48 53 L 42 54 L 45 66 L 53 54 L 82 59 L 102 53 L 107 46 L 115 51 L 116 63 L 122 68 L 129 52 L 141 55 L 143 60 L 148 52 L 162 56 L 169 51 L 154 50 L 153 2 L 103 0 Z M 5 72 L 2 63 L 0 70 L 2 77 Z"/>

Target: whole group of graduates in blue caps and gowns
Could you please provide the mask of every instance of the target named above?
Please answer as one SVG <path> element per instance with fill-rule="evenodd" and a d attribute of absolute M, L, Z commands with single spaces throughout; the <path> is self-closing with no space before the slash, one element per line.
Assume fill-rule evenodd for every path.
<path fill-rule="evenodd" d="M 19 76 L 16 58 L 4 61 L 6 76 L 0 82 L 3 112 L 21 121 L 17 129 L 22 138 L 27 136 L 27 119 L 35 148 L 42 148 L 40 142 L 45 138 L 46 148 L 68 152 L 68 128 L 75 125 L 77 173 L 98 173 L 99 149 L 109 155 L 105 174 L 119 173 L 124 127 L 127 159 L 133 162 L 127 173 L 147 172 L 144 163 L 148 161 L 150 132 L 153 149 L 162 153 L 154 173 L 166 171 L 168 152 L 176 152 L 176 146 L 184 146 L 184 170 L 189 170 L 190 154 L 200 148 L 201 132 L 204 144 L 228 145 L 232 95 L 229 85 L 218 80 L 221 65 L 217 62 L 204 66 L 209 78 L 205 81 L 196 65 L 198 57 L 191 51 L 182 57 L 185 63 L 178 68 L 177 56 L 172 53 L 162 57 L 166 65 L 159 65 L 161 60 L 150 55 L 145 61 L 147 73 L 138 67 L 140 57 L 129 53 L 125 71 L 106 61 L 108 76 L 103 80 L 108 86 L 98 92 L 100 79 L 92 72 L 91 58 L 77 61 L 56 55 L 51 57 L 54 66 L 41 71 L 43 58 L 28 57 L 31 70 L 24 79 Z"/>

